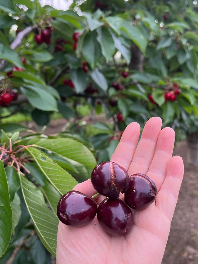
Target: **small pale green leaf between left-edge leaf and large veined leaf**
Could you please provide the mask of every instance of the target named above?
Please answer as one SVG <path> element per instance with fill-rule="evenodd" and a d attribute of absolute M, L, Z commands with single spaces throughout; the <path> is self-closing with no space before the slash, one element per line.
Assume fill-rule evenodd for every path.
<path fill-rule="evenodd" d="M 10 204 L 12 208 L 12 233 L 14 234 L 15 227 L 19 223 L 21 217 L 21 202 L 17 193 L 15 193 L 14 199 Z"/>

